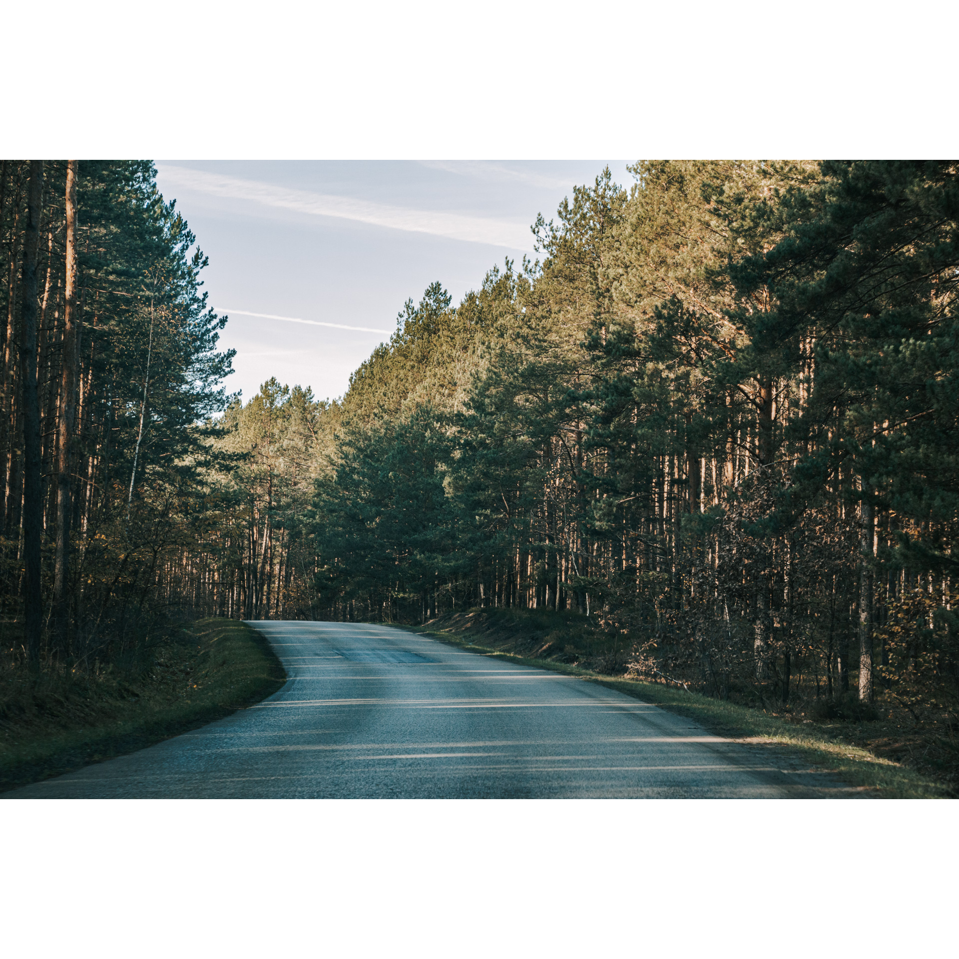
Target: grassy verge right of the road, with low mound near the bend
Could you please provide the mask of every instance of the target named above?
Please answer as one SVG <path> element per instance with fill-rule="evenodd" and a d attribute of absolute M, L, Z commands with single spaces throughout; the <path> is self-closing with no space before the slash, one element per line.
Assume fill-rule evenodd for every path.
<path fill-rule="evenodd" d="M 842 732 L 823 729 L 810 720 L 791 720 L 676 687 L 604 675 L 594 669 L 529 655 L 528 651 L 537 646 L 545 651 L 535 635 L 529 636 L 527 633 L 525 638 L 511 642 L 504 639 L 503 630 L 497 629 L 495 621 L 489 629 L 479 624 L 478 627 L 464 628 L 463 620 L 458 620 L 450 624 L 440 621 L 408 628 L 480 655 L 508 659 L 522 666 L 550 669 L 624 692 L 662 706 L 672 713 L 687 716 L 718 736 L 767 745 L 770 749 L 787 748 L 808 765 L 827 769 L 845 782 L 868 790 L 877 797 L 935 799 L 954 796 L 947 785 L 937 783 L 923 772 L 877 756 L 869 748 L 856 744 L 854 735 L 850 736 L 848 731 L 843 731 L 846 735 L 842 735 Z M 484 634 L 490 635 L 493 642 L 488 643 Z"/>

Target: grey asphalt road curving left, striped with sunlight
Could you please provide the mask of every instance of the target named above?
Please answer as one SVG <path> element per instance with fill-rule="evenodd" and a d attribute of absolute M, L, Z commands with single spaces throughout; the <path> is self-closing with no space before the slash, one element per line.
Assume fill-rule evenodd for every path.
<path fill-rule="evenodd" d="M 262 703 L 4 798 L 813 798 L 850 790 L 595 683 L 389 626 L 254 622 Z"/>

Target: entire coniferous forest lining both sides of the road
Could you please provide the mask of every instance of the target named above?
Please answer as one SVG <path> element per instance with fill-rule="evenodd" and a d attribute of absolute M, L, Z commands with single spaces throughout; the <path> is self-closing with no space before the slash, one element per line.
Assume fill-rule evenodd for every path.
<path fill-rule="evenodd" d="M 5 161 L 8 678 L 201 617 L 535 610 L 611 672 L 951 741 L 959 166 L 630 170 L 410 299 L 338 400 L 242 404 L 152 164 Z"/>

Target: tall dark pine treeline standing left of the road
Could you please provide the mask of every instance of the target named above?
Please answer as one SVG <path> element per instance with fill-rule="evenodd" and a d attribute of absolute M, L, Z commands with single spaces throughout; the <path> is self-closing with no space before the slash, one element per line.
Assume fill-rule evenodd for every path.
<path fill-rule="evenodd" d="M 0 602 L 14 671 L 137 667 L 226 403 L 205 258 L 148 161 L 0 166 Z"/>

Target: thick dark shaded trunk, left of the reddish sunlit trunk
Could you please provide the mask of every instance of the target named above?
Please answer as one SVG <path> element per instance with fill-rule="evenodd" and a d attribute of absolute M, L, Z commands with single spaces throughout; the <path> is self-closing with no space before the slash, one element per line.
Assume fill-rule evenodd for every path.
<path fill-rule="evenodd" d="M 20 325 L 20 384 L 23 405 L 23 548 L 26 567 L 24 611 L 27 659 L 40 668 L 43 601 L 40 592 L 40 540 L 43 535 L 43 487 L 40 480 L 40 404 L 36 393 L 36 254 L 43 209 L 43 160 L 30 162 L 27 231 L 23 250 L 23 294 Z"/>

